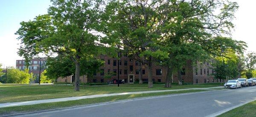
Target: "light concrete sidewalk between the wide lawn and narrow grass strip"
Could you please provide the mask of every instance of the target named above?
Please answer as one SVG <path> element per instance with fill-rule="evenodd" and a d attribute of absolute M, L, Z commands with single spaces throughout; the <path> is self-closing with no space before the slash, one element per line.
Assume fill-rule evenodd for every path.
<path fill-rule="evenodd" d="M 130 94 L 143 94 L 143 93 L 156 93 L 156 92 L 175 92 L 175 91 L 198 90 L 198 89 L 211 90 L 211 89 L 220 89 L 220 88 L 223 88 L 223 86 L 209 87 L 209 88 L 156 90 L 156 91 L 143 91 L 143 92 L 123 92 L 123 93 L 112 93 L 112 94 L 101 94 L 101 95 L 87 95 L 87 96 L 79 96 L 79 97 L 64 97 L 64 98 L 55 98 L 55 99 L 46 99 L 46 100 L 32 100 L 32 101 L 13 102 L 13 103 L 0 103 L 0 108 L 12 107 L 12 106 L 33 105 L 33 104 L 40 104 L 40 103 L 63 102 L 63 101 L 70 101 L 70 100 L 81 100 L 81 99 L 96 98 L 96 97 L 108 97 L 108 96 L 116 96 L 116 95 L 130 95 Z"/>

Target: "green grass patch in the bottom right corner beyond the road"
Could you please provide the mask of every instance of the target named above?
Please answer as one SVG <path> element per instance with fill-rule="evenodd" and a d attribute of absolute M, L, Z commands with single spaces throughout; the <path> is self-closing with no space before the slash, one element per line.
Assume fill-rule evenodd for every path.
<path fill-rule="evenodd" d="M 224 114 L 219 115 L 218 117 L 255 117 L 256 101 L 247 103 L 243 106 L 237 107 L 230 111 L 225 112 Z"/>

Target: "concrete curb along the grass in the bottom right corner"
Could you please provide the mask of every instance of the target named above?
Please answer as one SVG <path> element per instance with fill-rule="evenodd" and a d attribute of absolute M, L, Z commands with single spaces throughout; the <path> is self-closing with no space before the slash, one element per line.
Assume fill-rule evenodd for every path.
<path fill-rule="evenodd" d="M 221 114 L 223 114 L 223 113 L 225 113 L 225 112 L 227 112 L 227 111 L 230 111 L 230 110 L 232 110 L 232 109 L 236 109 L 236 108 L 239 107 L 239 106 L 243 106 L 243 105 L 245 105 L 245 104 L 247 104 L 247 103 L 250 103 L 250 102 L 253 102 L 253 101 L 255 101 L 255 100 L 256 100 L 256 98 L 253 99 L 253 100 L 246 101 L 246 102 L 244 102 L 244 103 L 240 103 L 240 104 L 235 105 L 235 106 L 231 106 L 230 108 L 227 108 L 227 109 L 224 109 L 224 110 L 221 110 L 221 111 L 217 111 L 217 112 L 215 112 L 215 113 L 213 113 L 213 114 L 209 114 L 209 115 L 207 115 L 207 116 L 205 116 L 205 117 L 216 117 L 216 116 L 221 115 Z"/>

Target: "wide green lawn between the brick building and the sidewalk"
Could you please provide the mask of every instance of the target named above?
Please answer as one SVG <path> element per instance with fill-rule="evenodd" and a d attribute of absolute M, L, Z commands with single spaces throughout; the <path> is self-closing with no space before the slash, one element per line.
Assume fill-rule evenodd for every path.
<path fill-rule="evenodd" d="M 124 84 L 117 87 L 111 86 L 83 86 L 80 92 L 74 92 L 73 86 L 65 85 L 15 85 L 0 84 L 0 103 L 19 102 L 28 100 L 42 100 L 61 97 L 74 97 L 84 95 L 99 95 L 119 92 L 137 92 L 149 90 L 184 89 L 184 88 L 206 88 L 210 85 L 172 85 L 172 88 L 164 88 L 164 84 L 154 84 L 148 88 L 148 84 Z"/>

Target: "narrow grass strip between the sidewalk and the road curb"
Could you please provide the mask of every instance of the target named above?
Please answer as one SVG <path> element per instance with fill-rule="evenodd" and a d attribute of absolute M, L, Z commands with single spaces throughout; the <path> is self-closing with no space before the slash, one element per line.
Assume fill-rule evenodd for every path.
<path fill-rule="evenodd" d="M 125 99 L 138 98 L 138 97 L 150 97 L 150 96 L 158 96 L 158 95 L 171 95 L 171 94 L 201 92 L 201 91 L 206 91 L 206 90 L 186 90 L 186 91 L 174 91 L 174 92 L 119 95 L 119 96 L 110 96 L 110 97 L 97 97 L 93 99 L 73 100 L 73 101 L 66 101 L 66 102 L 43 103 L 43 104 L 35 104 L 35 105 L 28 105 L 28 106 L 14 106 L 14 107 L 0 108 L 0 115 L 58 109 L 58 108 L 64 108 L 64 107 L 70 107 L 70 106 L 103 103 L 103 102 L 125 100 Z"/>

